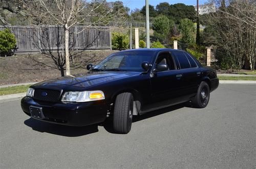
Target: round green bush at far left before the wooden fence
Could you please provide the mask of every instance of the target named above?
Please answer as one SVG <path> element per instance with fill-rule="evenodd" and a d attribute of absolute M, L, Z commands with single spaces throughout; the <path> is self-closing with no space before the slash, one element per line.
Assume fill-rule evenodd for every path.
<path fill-rule="evenodd" d="M 0 54 L 6 56 L 16 47 L 16 39 L 9 29 L 0 31 Z"/>

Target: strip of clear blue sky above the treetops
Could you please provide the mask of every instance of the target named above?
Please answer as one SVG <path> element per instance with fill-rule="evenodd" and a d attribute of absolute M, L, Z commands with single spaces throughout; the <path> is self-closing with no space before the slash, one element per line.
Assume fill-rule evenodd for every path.
<path fill-rule="evenodd" d="M 107 0 L 108 2 L 115 2 L 115 0 Z M 116 0 L 117 1 L 117 0 Z M 121 1 L 121 0 L 119 0 Z M 197 0 L 148 0 L 150 5 L 153 5 L 156 7 L 159 3 L 167 2 L 169 4 L 177 4 L 177 3 L 182 3 L 185 5 L 197 5 Z M 135 8 L 141 9 L 145 5 L 145 0 L 122 0 L 123 5 L 130 8 L 131 10 L 134 10 Z M 207 0 L 199 0 L 199 4 L 205 4 Z"/>

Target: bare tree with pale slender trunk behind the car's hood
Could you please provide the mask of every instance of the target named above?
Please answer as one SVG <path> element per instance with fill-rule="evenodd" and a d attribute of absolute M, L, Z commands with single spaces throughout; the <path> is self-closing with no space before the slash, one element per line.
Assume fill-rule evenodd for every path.
<path fill-rule="evenodd" d="M 105 0 L 22 0 L 28 12 L 44 23 L 54 22 L 62 25 L 65 32 L 66 75 L 70 75 L 69 39 L 70 28 L 75 25 L 86 26 L 74 34 L 79 34 L 91 26 L 105 26 L 114 19 L 123 19 L 118 3 L 107 3 Z M 100 28 L 99 28 L 100 29 Z"/>

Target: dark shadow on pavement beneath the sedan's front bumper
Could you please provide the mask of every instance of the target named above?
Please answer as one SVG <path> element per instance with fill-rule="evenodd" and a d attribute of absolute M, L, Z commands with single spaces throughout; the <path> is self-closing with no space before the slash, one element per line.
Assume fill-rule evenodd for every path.
<path fill-rule="evenodd" d="M 98 132 L 98 125 L 84 127 L 63 126 L 41 122 L 34 118 L 29 118 L 25 120 L 24 124 L 28 127 L 31 127 L 35 131 L 39 131 L 42 133 L 46 132 L 67 137 L 77 137 Z"/>

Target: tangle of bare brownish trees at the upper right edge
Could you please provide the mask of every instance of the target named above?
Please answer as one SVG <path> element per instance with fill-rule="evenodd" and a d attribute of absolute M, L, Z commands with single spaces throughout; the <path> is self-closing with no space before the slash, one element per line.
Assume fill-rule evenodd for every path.
<path fill-rule="evenodd" d="M 232 68 L 255 68 L 256 3 L 249 0 L 214 0 L 218 10 L 205 18 L 205 42 L 224 51 Z M 224 56 L 224 55 L 223 55 Z M 248 62 L 248 63 L 247 63 Z M 246 67 L 246 66 L 245 66 Z"/>

